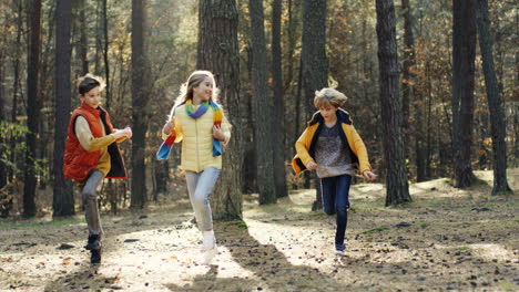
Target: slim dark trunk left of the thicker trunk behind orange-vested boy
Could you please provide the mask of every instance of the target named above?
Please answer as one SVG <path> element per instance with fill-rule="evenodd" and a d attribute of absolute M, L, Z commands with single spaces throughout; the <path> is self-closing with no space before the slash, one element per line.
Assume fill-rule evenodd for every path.
<path fill-rule="evenodd" d="M 40 69 L 40 33 L 41 33 L 41 0 L 32 0 L 28 18 L 30 39 L 27 54 L 27 126 L 26 136 L 26 177 L 23 184 L 23 216 L 33 217 L 37 212 L 34 201 L 37 174 L 35 174 L 35 149 L 38 136 L 38 121 L 40 108 L 38 107 L 38 80 Z"/>

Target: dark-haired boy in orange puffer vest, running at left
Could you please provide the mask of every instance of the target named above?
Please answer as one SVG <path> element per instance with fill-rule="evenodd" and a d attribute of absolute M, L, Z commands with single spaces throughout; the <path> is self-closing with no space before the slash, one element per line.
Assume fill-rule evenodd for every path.
<path fill-rule="evenodd" d="M 98 208 L 96 188 L 104 177 L 126 178 L 126 169 L 116 142 L 132 136 L 132 129 L 114 129 L 106 111 L 101 107 L 101 79 L 86 74 L 78 84 L 81 105 L 70 117 L 65 140 L 63 174 L 81 186 L 89 239 L 90 262 L 101 262 L 103 228 Z"/>

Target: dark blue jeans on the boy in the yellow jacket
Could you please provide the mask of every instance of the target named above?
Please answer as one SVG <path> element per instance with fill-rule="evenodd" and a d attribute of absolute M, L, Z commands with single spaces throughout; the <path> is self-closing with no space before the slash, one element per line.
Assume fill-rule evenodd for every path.
<path fill-rule="evenodd" d="M 348 223 L 349 185 L 352 176 L 342 175 L 320 179 L 323 209 L 327 215 L 337 213 L 337 229 L 335 231 L 335 249 L 343 250 L 346 226 Z"/>

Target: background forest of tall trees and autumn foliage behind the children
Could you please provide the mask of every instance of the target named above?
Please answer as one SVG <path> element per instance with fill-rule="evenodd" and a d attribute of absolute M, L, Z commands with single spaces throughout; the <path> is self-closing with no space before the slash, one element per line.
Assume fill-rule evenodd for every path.
<path fill-rule="evenodd" d="M 410 200 L 408 180 L 467 187 L 475 168 L 493 169 L 492 192 L 507 191 L 506 169 L 518 166 L 512 1 L 9 0 L 0 11 L 3 216 L 74 213 L 60 166 L 74 81 L 86 72 L 106 81 L 113 124 L 134 131 L 121 145 L 130 180 L 104 185 L 113 211 L 183 191 L 179 158 L 154 153 L 194 69 L 215 73 L 233 124 L 213 197 L 220 219 L 241 216 L 242 194 L 272 204 L 315 186 L 288 163 L 324 86 L 349 97 L 388 205 Z"/>

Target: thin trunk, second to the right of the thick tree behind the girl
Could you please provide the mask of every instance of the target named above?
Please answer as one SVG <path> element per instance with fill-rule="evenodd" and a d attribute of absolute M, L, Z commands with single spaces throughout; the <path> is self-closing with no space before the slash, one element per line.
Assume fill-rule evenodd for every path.
<path fill-rule="evenodd" d="M 286 189 L 285 169 L 285 102 L 283 97 L 283 55 L 281 46 L 282 30 L 282 0 L 274 0 L 272 4 L 272 80 L 274 88 L 273 111 L 273 158 L 274 158 L 274 186 L 277 198 L 288 196 Z"/>

